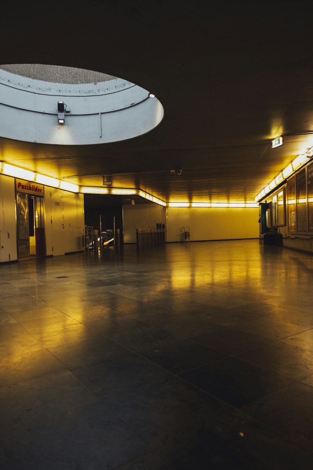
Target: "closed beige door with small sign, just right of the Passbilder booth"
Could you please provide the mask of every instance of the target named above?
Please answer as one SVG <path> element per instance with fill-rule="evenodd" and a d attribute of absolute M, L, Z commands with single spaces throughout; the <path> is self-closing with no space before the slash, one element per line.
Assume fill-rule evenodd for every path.
<path fill-rule="evenodd" d="M 65 254 L 63 192 L 51 188 L 51 219 L 53 256 Z"/>

